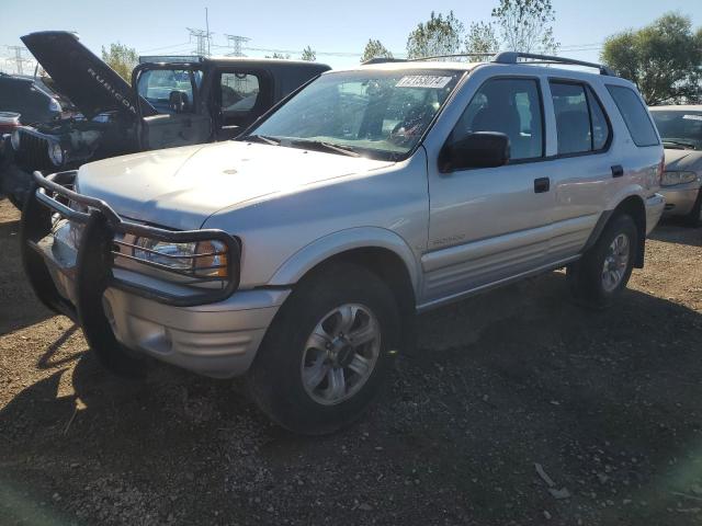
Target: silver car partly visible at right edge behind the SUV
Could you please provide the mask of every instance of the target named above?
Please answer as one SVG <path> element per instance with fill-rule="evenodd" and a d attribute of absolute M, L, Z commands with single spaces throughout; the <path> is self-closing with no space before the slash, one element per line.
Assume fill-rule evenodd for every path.
<path fill-rule="evenodd" d="M 650 108 L 666 149 L 660 193 L 665 215 L 679 216 L 691 227 L 702 222 L 702 105 Z"/>

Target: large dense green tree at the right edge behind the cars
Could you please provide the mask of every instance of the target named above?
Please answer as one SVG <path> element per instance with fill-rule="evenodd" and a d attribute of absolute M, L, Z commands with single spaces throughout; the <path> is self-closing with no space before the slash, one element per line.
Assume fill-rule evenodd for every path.
<path fill-rule="evenodd" d="M 636 84 L 649 105 L 702 101 L 702 28 L 667 13 L 604 42 L 601 59 Z"/>

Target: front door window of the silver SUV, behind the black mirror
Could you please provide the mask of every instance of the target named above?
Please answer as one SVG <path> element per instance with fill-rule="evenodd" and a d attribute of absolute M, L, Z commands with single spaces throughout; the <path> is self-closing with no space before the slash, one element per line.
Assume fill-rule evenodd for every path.
<path fill-rule="evenodd" d="M 543 118 L 537 81 L 506 78 L 485 82 L 463 112 L 451 140 L 461 140 L 476 132 L 507 135 L 511 160 L 543 157 Z"/>

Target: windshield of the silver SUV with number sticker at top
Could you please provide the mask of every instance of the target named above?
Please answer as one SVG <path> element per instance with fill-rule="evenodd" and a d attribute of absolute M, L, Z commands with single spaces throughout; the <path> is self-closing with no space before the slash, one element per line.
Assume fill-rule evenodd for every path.
<path fill-rule="evenodd" d="M 321 76 L 249 135 L 285 146 L 335 145 L 383 160 L 415 148 L 462 71 L 350 71 Z"/>

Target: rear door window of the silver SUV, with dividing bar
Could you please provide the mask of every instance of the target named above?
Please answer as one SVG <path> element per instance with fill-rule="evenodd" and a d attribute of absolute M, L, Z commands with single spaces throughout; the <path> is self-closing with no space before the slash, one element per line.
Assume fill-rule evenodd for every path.
<path fill-rule="evenodd" d="M 588 153 L 607 147 L 610 126 L 590 87 L 584 83 L 551 81 L 556 116 L 558 155 Z"/>

